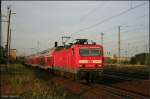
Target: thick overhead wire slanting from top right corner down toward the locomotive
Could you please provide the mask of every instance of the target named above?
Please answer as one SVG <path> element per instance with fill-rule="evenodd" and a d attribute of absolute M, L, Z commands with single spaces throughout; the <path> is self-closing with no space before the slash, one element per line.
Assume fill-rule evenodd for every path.
<path fill-rule="evenodd" d="M 122 11 L 122 12 L 120 12 L 120 13 L 114 15 L 114 16 L 111 16 L 111 17 L 109 17 L 109 18 L 106 18 L 106 19 L 104 19 L 104 20 L 102 20 L 102 21 L 100 21 L 100 22 L 98 22 L 98 23 L 96 23 L 96 24 L 93 24 L 93 25 L 91 25 L 91 26 L 89 26 L 89 27 L 87 27 L 87 28 L 80 29 L 79 31 L 74 32 L 74 33 L 78 33 L 78 32 L 81 32 L 81 31 L 84 31 L 84 30 L 87 30 L 87 29 L 96 27 L 96 26 L 98 26 L 98 25 L 100 25 L 100 24 L 102 24 L 102 23 L 105 23 L 105 22 L 107 22 L 107 21 L 109 21 L 109 20 L 111 20 L 111 19 L 113 19 L 113 18 L 116 18 L 116 17 L 118 17 L 118 16 L 121 16 L 121 15 L 123 15 L 123 14 L 125 14 L 125 13 L 127 13 L 127 12 L 129 12 L 129 11 L 135 9 L 135 8 L 138 8 L 138 7 L 140 7 L 140 6 L 143 6 L 143 5 L 145 5 L 145 4 L 147 4 L 147 2 L 144 2 L 144 3 L 142 3 L 142 4 L 136 5 L 136 6 L 134 6 L 134 7 L 132 7 L 132 8 L 129 8 L 129 9 L 125 10 L 125 11 Z M 72 33 L 72 34 L 73 34 L 73 33 Z"/>

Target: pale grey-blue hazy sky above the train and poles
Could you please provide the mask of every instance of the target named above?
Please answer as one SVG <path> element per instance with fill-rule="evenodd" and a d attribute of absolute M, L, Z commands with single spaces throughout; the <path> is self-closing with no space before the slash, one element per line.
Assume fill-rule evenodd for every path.
<path fill-rule="evenodd" d="M 101 33 L 105 56 L 117 55 L 119 26 L 122 56 L 149 48 L 149 1 L 2 1 L 2 16 L 7 16 L 8 5 L 16 13 L 10 27 L 17 56 L 51 48 L 55 41 L 61 45 L 62 36 L 101 44 Z M 7 22 L 1 24 L 4 46 Z"/>

